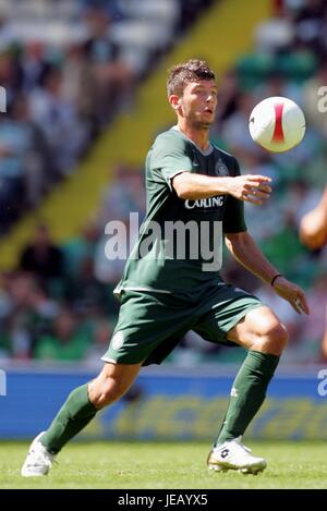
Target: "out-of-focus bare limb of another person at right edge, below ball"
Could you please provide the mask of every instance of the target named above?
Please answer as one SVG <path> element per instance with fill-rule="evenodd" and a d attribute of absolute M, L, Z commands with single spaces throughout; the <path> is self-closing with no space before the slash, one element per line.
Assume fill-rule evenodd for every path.
<path fill-rule="evenodd" d="M 327 218 L 323 208 L 315 208 L 304 215 L 300 223 L 300 238 L 311 250 L 319 248 L 327 242 Z"/>

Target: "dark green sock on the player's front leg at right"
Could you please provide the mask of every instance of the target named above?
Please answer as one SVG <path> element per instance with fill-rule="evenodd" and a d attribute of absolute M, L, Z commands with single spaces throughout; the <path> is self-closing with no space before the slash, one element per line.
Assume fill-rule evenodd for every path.
<path fill-rule="evenodd" d="M 234 379 L 216 446 L 243 435 L 264 402 L 278 362 L 277 355 L 249 351 Z"/>

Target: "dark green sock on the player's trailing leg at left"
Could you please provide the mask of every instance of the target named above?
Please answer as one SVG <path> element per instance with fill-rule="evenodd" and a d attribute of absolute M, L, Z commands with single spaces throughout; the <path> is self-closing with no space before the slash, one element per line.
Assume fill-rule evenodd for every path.
<path fill-rule="evenodd" d="M 40 442 L 51 454 L 57 454 L 96 413 L 97 409 L 88 399 L 87 384 L 77 387 L 70 393 Z"/>

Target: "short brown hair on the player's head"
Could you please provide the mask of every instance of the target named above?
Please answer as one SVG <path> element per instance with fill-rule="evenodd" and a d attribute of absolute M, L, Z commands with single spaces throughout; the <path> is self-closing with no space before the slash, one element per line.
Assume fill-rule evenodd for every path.
<path fill-rule="evenodd" d="M 198 80 L 216 80 L 214 71 L 210 70 L 205 60 L 191 59 L 187 62 L 173 65 L 169 70 L 167 80 L 168 96 L 171 94 L 181 96 L 189 83 Z"/>

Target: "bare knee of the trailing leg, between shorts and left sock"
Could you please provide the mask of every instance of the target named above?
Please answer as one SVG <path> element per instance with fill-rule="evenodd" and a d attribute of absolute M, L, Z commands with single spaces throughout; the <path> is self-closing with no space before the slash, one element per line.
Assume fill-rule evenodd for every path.
<path fill-rule="evenodd" d="M 106 362 L 97 378 L 88 384 L 89 401 L 102 409 L 121 398 L 138 375 L 142 364 L 113 364 Z"/>

